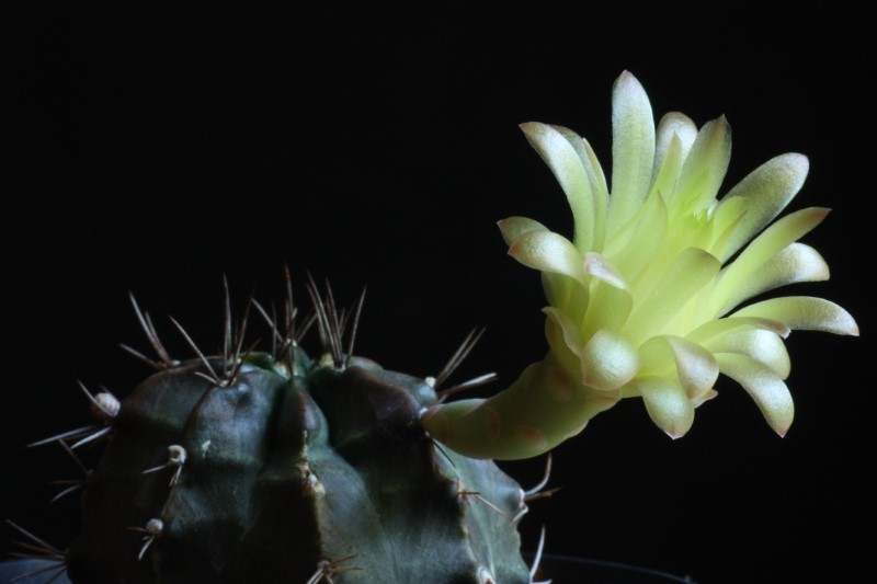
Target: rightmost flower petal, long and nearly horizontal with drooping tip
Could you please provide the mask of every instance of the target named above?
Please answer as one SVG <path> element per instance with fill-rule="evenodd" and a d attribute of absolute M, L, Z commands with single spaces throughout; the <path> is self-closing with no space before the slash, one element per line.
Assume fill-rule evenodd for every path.
<path fill-rule="evenodd" d="M 811 296 L 762 300 L 738 310 L 731 317 L 760 317 L 778 320 L 791 330 L 858 336 L 858 324 L 850 312 L 830 300 Z"/>

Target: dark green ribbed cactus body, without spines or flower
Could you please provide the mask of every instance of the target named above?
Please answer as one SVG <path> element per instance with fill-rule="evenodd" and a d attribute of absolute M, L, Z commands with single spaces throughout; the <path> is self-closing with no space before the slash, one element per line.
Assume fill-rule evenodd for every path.
<path fill-rule="evenodd" d="M 296 347 L 293 374 L 253 353 L 221 387 L 209 363 L 122 401 L 67 551 L 73 582 L 531 581 L 524 492 L 436 447 L 419 421 L 437 399 L 426 381 Z"/>

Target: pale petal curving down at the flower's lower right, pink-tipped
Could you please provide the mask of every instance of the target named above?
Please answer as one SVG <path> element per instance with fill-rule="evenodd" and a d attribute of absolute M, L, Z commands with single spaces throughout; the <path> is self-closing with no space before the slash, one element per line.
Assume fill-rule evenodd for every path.
<path fill-rule="evenodd" d="M 752 397 L 774 432 L 785 436 L 795 417 L 795 403 L 786 383 L 768 367 L 745 355 L 720 353 L 716 359 L 721 373 Z"/>

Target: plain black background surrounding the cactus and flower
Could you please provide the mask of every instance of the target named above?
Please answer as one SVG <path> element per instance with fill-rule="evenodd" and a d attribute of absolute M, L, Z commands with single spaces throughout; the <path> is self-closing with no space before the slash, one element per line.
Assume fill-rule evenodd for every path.
<path fill-rule="evenodd" d="M 304 305 L 308 272 L 342 305 L 367 286 L 358 352 L 386 367 L 434 374 L 486 325 L 458 380 L 512 380 L 545 350 L 544 300 L 494 222 L 571 228 L 517 125 L 578 130 L 608 171 L 611 88 L 628 69 L 656 119 L 728 116 L 725 190 L 773 156 L 810 157 L 789 209 L 834 209 L 804 240 L 832 279 L 789 294 L 841 304 L 863 336 L 789 337 L 797 417 L 782 439 L 726 379 L 680 440 L 638 401 L 597 417 L 556 451 L 563 489 L 532 505 L 524 545 L 544 524 L 550 552 L 703 583 L 845 582 L 870 563 L 865 16 L 820 2 L 778 15 L 543 5 L 487 18 L 135 7 L 2 20 L 4 518 L 61 547 L 75 531 L 73 499 L 46 502 L 47 481 L 78 469 L 24 445 L 88 423 L 77 378 L 124 394 L 147 373 L 117 346 L 147 346 L 129 290 L 185 356 L 166 314 L 213 348 L 223 275 L 236 306 L 253 289 L 270 302 L 288 265 Z M 531 484 L 542 465 L 504 467 Z"/>

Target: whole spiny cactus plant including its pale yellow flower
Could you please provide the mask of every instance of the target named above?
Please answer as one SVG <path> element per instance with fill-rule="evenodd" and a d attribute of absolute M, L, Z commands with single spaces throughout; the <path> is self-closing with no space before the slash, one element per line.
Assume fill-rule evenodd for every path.
<path fill-rule="evenodd" d="M 784 339 L 858 334 L 829 300 L 760 299 L 829 277 L 798 242 L 828 209 L 774 221 L 804 184 L 806 157 L 775 157 L 718 198 L 727 121 L 698 129 L 671 113 L 656 126 L 626 71 L 613 91 L 611 183 L 574 131 L 522 129 L 576 226 L 570 240 L 525 217 L 500 221 L 509 254 L 542 273 L 542 360 L 493 397 L 446 402 L 456 388 L 437 388 L 477 336 L 435 379 L 389 371 L 353 354 L 362 300 L 346 318 L 312 283 L 316 360 L 298 344 L 288 275 L 282 322 L 252 304 L 272 327 L 270 351 L 243 350 L 248 318 L 232 331 L 227 301 L 218 356 L 174 321 L 197 355 L 178 363 L 135 302 L 158 360 L 128 351 L 157 373 L 122 402 L 83 386 L 101 423 L 39 443 L 73 457 L 87 443 L 109 447 L 83 481 L 81 535 L 61 552 L 20 528 L 25 546 L 90 584 L 527 583 L 536 570 L 516 526 L 527 502 L 551 491 L 538 492 L 545 481 L 523 491 L 493 459 L 543 455 L 628 398 L 679 438 L 718 396 L 719 375 L 784 435 L 794 419 Z"/>

